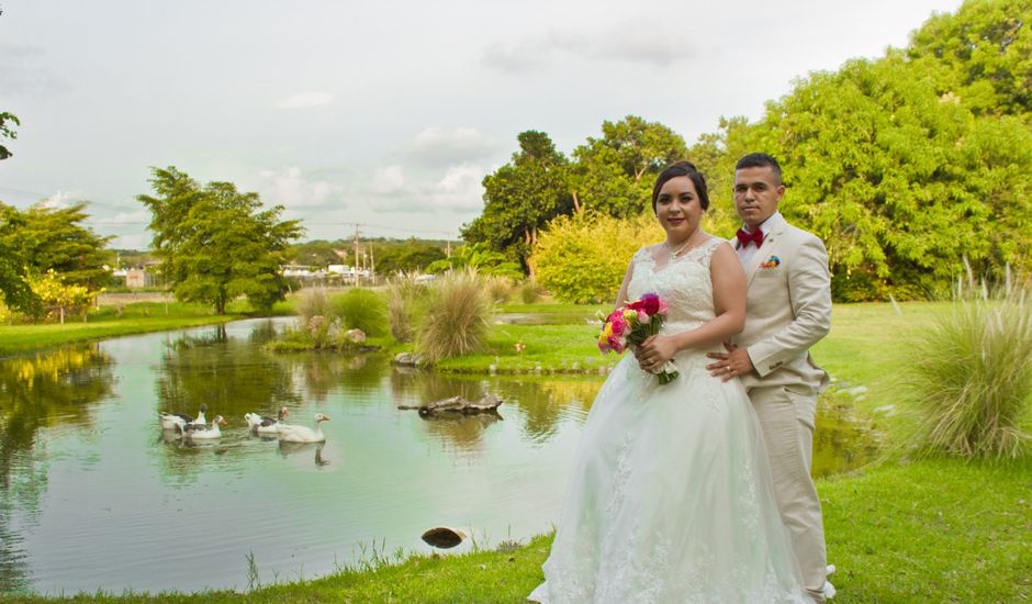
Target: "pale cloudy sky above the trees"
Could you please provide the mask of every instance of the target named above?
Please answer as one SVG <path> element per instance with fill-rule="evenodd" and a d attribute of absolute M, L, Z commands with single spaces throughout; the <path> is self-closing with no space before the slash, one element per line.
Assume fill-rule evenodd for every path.
<path fill-rule="evenodd" d="M 150 167 L 257 191 L 303 241 L 457 238 L 543 131 L 628 114 L 691 145 L 960 0 L 0 0 L 0 201 L 88 202 L 145 249 Z"/>

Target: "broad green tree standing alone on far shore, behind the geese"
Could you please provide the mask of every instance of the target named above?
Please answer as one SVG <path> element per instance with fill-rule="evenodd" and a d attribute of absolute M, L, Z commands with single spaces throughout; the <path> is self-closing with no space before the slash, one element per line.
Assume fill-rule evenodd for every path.
<path fill-rule="evenodd" d="M 257 193 L 229 182 L 201 187 L 175 167 L 152 168 L 150 183 L 156 195 L 136 199 L 150 210 L 155 255 L 177 299 L 225 314 L 239 295 L 260 309 L 283 298 L 280 265 L 302 228 L 279 221 L 281 205 L 261 210 Z"/>

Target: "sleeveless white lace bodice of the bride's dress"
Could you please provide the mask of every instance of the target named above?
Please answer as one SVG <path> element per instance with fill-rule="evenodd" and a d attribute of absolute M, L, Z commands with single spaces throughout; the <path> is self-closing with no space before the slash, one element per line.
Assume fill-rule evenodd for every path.
<path fill-rule="evenodd" d="M 627 297 L 638 300 L 654 292 L 666 301 L 669 314 L 663 332 L 683 332 L 716 316 L 709 261 L 723 239 L 713 238 L 666 265 L 657 267 L 653 250 L 642 247 L 635 254 Z"/>

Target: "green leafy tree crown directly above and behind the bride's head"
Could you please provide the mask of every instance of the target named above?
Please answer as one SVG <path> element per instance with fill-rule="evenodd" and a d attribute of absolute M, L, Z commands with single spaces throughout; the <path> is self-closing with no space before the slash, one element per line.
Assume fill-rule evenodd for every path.
<path fill-rule="evenodd" d="M 654 177 L 687 156 L 684 138 L 659 122 L 628 115 L 603 122 L 602 138 L 573 152 L 571 187 L 581 208 L 610 216 L 636 216 L 650 208 Z"/>

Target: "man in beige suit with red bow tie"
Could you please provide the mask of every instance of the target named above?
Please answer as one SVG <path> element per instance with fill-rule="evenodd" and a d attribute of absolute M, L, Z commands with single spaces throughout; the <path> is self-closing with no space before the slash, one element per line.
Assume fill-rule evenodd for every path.
<path fill-rule="evenodd" d="M 734 205 L 742 228 L 732 242 L 748 282 L 745 328 L 707 366 L 725 381 L 741 377 L 766 441 L 782 519 L 792 534 L 803 583 L 816 602 L 827 583 L 820 500 L 810 478 L 817 395 L 828 374 L 809 348 L 831 327 L 828 253 L 816 236 L 777 211 L 785 194 L 781 166 L 753 153 L 734 167 Z"/>

